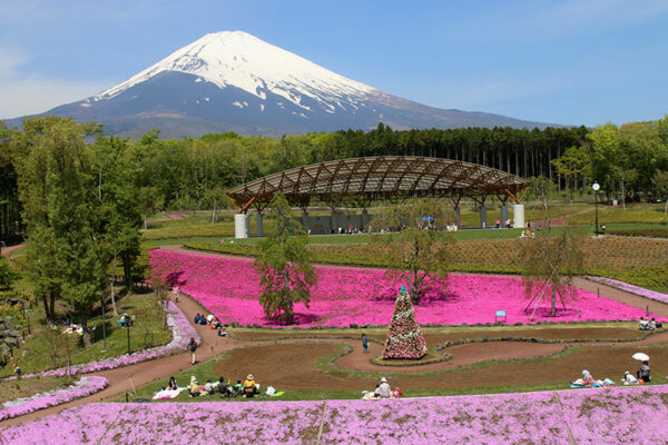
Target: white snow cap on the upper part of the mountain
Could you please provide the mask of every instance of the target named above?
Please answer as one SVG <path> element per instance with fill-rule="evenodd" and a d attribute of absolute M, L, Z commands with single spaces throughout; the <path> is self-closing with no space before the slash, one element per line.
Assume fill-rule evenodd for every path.
<path fill-rule="evenodd" d="M 156 65 L 132 76 L 95 97 L 110 99 L 122 91 L 165 71 L 197 76 L 195 81 L 207 81 L 219 88 L 240 88 L 264 100 L 267 91 L 302 105 L 308 97 L 324 107 L 334 109 L 342 96 L 362 100 L 373 88 L 347 79 L 289 51 L 267 43 L 243 31 L 208 33 L 175 51 Z"/>

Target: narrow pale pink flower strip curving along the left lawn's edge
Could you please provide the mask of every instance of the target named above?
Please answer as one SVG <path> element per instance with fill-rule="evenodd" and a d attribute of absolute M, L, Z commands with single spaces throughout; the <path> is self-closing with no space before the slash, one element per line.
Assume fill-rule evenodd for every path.
<path fill-rule="evenodd" d="M 73 365 L 69 369 L 69 375 L 76 374 L 88 374 L 96 373 L 105 369 L 114 369 L 121 366 L 135 365 L 137 363 L 153 360 L 155 358 L 164 357 L 173 353 L 187 348 L 190 337 L 195 338 L 195 342 L 199 345 L 202 338 L 193 325 L 188 322 L 184 313 L 173 301 L 167 303 L 167 325 L 171 328 L 171 342 L 167 345 L 158 346 L 150 349 L 139 350 L 130 355 L 124 355 L 120 357 L 111 357 L 99 362 L 90 362 L 81 365 Z M 28 374 L 24 378 L 36 377 L 38 374 Z M 68 375 L 67 368 L 58 368 L 51 370 L 45 370 L 39 374 L 42 377 L 58 376 L 62 377 Z M 16 376 L 4 377 L 1 380 L 16 379 Z"/>

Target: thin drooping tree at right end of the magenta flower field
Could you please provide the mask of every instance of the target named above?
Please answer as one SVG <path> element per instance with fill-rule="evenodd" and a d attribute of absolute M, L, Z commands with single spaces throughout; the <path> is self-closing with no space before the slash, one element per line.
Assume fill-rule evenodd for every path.
<path fill-rule="evenodd" d="M 546 298 L 550 300 L 550 316 L 557 315 L 557 299 L 566 310 L 569 301 L 580 314 L 574 305 L 576 294 L 572 287 L 573 276 L 582 270 L 582 253 L 578 248 L 579 240 L 573 237 L 567 227 L 561 235 L 556 236 L 548 226 L 539 231 L 536 238 L 520 239 L 523 260 L 523 284 L 527 297 L 530 298 L 524 312 L 529 312 L 533 304 L 533 312 Z M 546 294 L 550 295 L 547 296 Z"/>

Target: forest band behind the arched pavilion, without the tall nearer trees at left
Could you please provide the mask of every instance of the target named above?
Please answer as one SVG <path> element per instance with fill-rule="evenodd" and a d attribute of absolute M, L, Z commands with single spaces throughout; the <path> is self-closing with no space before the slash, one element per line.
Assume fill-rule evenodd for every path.
<path fill-rule="evenodd" d="M 58 128 L 82 127 L 46 117 L 26 121 L 22 130 L 0 123 L 0 231 L 21 224 L 17 159 L 38 138 Z M 229 207 L 225 190 L 245 181 L 323 160 L 360 156 L 410 155 L 482 164 L 530 178 L 533 196 L 546 189 L 566 198 L 588 192 L 597 180 L 608 199 L 662 199 L 668 181 L 668 117 L 622 127 L 588 129 L 465 128 L 394 131 L 376 129 L 285 136 L 281 139 L 236 134 L 161 140 L 159 131 L 139 140 L 104 136 L 88 126 L 81 149 L 90 157 L 89 175 L 101 184 L 122 170 L 140 212 L 156 209 Z M 50 131 L 49 130 L 49 131 Z M 538 191 L 540 189 L 540 192 Z"/>

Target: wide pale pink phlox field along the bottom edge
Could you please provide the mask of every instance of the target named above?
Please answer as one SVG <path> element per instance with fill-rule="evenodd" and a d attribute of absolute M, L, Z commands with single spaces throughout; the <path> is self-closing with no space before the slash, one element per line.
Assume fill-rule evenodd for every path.
<path fill-rule="evenodd" d="M 88 404 L 0 433 L 20 444 L 664 444 L 668 386 L 326 402 Z M 650 424 L 649 424 L 650 423 Z"/>

